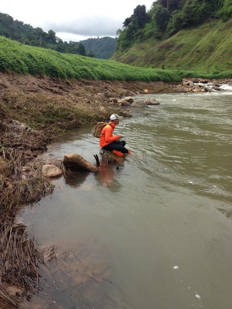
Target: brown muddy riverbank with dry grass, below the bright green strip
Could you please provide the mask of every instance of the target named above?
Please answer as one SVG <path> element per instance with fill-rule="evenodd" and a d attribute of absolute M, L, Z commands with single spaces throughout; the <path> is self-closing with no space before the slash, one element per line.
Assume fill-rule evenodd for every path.
<path fill-rule="evenodd" d="M 0 74 L 1 308 L 17 308 L 20 299 L 29 298 L 39 289 L 41 252 L 27 239 L 25 226 L 16 224 L 14 218 L 22 206 L 52 192 L 49 180 L 41 176 L 43 163 L 38 159 L 48 143 L 66 130 L 106 120 L 113 112 L 129 117 L 128 107 L 120 105 L 123 96 L 143 94 L 145 89 L 152 94 L 187 92 L 192 87 L 189 92 L 194 92 L 197 86 L 187 88 L 185 83 L 76 81 Z M 54 163 L 59 165 L 58 161 Z M 21 258 L 13 263 L 14 255 L 22 251 L 23 264 Z"/>

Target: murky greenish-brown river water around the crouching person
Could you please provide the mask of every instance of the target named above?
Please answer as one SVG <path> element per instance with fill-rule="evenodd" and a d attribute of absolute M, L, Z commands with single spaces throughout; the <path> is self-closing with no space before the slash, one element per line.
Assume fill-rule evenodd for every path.
<path fill-rule="evenodd" d="M 19 217 L 55 252 L 29 307 L 231 307 L 232 92 L 147 97 L 161 105 L 115 129 L 131 155 L 53 180 L 54 193 Z M 45 156 L 95 163 L 91 133 L 67 133 Z"/>

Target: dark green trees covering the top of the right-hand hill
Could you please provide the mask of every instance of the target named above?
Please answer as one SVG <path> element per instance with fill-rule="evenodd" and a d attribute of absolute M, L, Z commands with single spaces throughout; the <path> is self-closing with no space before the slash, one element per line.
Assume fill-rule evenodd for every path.
<path fill-rule="evenodd" d="M 138 5 L 125 19 L 124 30 L 120 29 L 117 50 L 128 49 L 150 37 L 170 37 L 208 19 L 223 18 L 226 21 L 231 17 L 232 0 L 157 0 L 148 12 L 144 5 Z"/>

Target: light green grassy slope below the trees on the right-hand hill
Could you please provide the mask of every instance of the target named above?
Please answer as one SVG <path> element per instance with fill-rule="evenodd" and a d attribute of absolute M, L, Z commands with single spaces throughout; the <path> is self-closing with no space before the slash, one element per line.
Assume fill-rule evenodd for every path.
<path fill-rule="evenodd" d="M 213 73 L 231 70 L 232 19 L 204 23 L 179 31 L 167 40 L 149 38 L 130 49 L 118 50 L 112 60 L 133 66 L 196 70 Z"/>

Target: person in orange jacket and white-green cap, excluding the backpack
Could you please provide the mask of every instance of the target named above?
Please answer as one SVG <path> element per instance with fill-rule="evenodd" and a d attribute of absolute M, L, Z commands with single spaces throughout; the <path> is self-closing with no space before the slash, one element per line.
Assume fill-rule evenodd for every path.
<path fill-rule="evenodd" d="M 122 116 L 113 114 L 110 116 L 110 123 L 101 129 L 100 147 L 105 150 L 112 150 L 115 155 L 122 157 L 123 154 L 131 153 L 125 148 L 126 142 L 122 141 L 122 135 L 113 136 L 114 128 L 119 124 L 119 119 Z"/>

